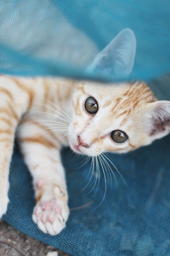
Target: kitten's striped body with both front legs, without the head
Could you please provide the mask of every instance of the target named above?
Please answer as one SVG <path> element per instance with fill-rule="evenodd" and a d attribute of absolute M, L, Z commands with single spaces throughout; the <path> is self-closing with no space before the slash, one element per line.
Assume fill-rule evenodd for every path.
<path fill-rule="evenodd" d="M 49 227 L 50 234 L 60 232 L 68 217 L 68 196 L 60 148 L 68 145 L 66 129 L 70 120 L 64 112 L 71 116 L 70 101 L 74 86 L 73 81 L 69 83 L 66 79 L 17 79 L 0 76 L 0 148 L 4 152 L 3 158 L 1 154 L 1 170 L 5 173 L 5 177 L 3 173 L 0 175 L 0 195 L 5 193 L 0 199 L 0 215 L 5 213 L 7 207 L 7 177 L 15 129 L 18 127 L 17 137 L 33 176 L 37 201 L 40 205 L 44 202 L 42 207 L 48 208 L 45 202 L 53 200 L 51 207 L 54 214 L 59 216 L 55 221 L 56 227 Z M 35 209 L 34 220 L 40 209 L 41 207 Z M 54 214 L 48 215 L 51 222 L 56 217 Z M 45 211 L 40 218 L 43 223 Z M 45 227 L 40 228 L 47 231 Z"/>

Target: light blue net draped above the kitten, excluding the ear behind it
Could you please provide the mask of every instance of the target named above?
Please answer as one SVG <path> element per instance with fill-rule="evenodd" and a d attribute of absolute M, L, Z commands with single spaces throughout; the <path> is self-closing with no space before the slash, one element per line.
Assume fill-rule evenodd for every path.
<path fill-rule="evenodd" d="M 170 70 L 169 26 L 168 0 L 1 0 L 0 73 L 99 79 L 84 67 L 129 27 L 137 38 L 130 79 L 155 78 Z"/>

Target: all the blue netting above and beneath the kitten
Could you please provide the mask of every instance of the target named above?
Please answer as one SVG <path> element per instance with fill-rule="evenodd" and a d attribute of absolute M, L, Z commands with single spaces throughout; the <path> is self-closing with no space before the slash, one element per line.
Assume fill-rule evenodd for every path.
<path fill-rule="evenodd" d="M 0 73 L 107 80 L 86 67 L 127 27 L 137 39 L 130 79 L 152 79 L 157 97 L 170 99 L 168 76 L 153 80 L 170 70 L 169 0 L 1 0 Z M 109 154 L 111 173 L 99 166 L 97 181 L 88 174 L 91 163 L 64 148 L 71 214 L 66 228 L 50 236 L 32 221 L 31 176 L 15 142 L 3 219 L 73 256 L 169 256 L 169 145 L 167 136 L 125 155 Z"/>

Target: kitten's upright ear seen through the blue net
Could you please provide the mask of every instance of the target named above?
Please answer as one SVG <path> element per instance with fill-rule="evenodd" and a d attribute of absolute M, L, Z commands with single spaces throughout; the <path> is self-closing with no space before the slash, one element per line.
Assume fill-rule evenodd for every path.
<path fill-rule="evenodd" d="M 131 29 L 124 29 L 97 54 L 87 70 L 108 76 L 127 77 L 132 70 L 135 53 L 135 34 Z"/>

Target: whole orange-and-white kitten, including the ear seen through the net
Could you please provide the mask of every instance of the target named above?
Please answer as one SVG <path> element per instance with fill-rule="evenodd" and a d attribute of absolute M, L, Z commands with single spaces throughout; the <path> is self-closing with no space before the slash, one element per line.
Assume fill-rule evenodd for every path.
<path fill-rule="evenodd" d="M 128 74 L 134 51 L 134 34 L 125 29 L 88 71 Z M 112 68 L 114 54 L 119 58 Z M 33 220 L 43 232 L 55 235 L 65 227 L 69 214 L 62 146 L 88 156 L 126 153 L 167 135 L 169 120 L 170 102 L 157 101 L 144 82 L 0 76 L 0 216 L 7 210 L 15 131 L 33 177 L 37 200 Z"/>

